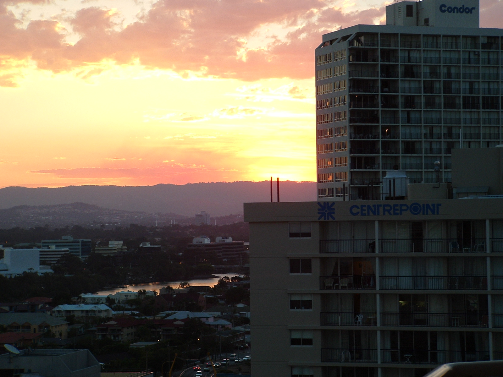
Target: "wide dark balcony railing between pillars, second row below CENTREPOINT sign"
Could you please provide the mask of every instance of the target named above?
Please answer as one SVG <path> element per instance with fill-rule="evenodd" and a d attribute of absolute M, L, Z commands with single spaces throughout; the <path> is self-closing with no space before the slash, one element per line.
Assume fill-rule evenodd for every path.
<path fill-rule="evenodd" d="M 487 276 L 381 276 L 382 290 L 487 290 Z"/>

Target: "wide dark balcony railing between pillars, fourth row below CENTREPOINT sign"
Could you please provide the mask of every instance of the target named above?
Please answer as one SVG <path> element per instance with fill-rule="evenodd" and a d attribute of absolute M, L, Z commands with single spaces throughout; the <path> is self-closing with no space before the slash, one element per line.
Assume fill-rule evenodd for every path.
<path fill-rule="evenodd" d="M 419 349 L 382 349 L 383 363 L 444 364 L 446 362 L 489 360 L 489 351 L 444 351 Z"/>

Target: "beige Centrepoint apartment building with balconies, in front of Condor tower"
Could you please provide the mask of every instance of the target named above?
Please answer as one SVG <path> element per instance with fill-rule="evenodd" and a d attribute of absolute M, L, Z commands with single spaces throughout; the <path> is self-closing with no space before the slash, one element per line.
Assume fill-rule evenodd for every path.
<path fill-rule="evenodd" d="M 244 218 L 254 373 L 503 359 L 503 199 L 245 203 Z"/>

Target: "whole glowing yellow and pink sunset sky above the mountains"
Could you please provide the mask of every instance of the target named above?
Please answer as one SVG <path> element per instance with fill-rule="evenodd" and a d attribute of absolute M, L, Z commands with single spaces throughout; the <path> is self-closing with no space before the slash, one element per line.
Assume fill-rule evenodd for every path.
<path fill-rule="evenodd" d="M 0 0 L 0 187 L 314 180 L 313 51 L 386 4 Z"/>

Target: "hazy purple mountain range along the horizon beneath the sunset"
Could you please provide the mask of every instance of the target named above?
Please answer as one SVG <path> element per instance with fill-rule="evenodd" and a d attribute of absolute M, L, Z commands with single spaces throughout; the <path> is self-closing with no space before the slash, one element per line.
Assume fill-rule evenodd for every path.
<path fill-rule="evenodd" d="M 281 202 L 304 202 L 316 200 L 315 182 L 280 182 Z M 104 216 L 124 216 L 136 219 L 149 214 L 163 214 L 169 217 L 194 217 L 200 211 L 206 211 L 211 217 L 229 214 L 242 214 L 244 202 L 269 202 L 270 182 L 208 182 L 176 184 L 156 184 L 154 186 L 66 186 L 57 188 L 11 186 L 0 189 L 0 209 L 9 209 L 14 216 L 24 214 L 35 220 L 44 213 L 63 212 L 69 216 L 79 213 L 81 219 L 96 217 L 98 211 L 89 207 L 83 210 L 79 206 L 89 204 L 99 206 L 99 211 L 109 211 Z M 274 182 L 274 201 L 276 202 L 276 182 Z M 78 203 L 75 203 L 78 202 Z M 73 204 L 72 204 L 73 203 Z M 70 205 L 60 208 L 38 209 L 18 206 L 55 206 Z M 18 207 L 18 208 L 12 208 Z M 115 211 L 129 211 L 124 214 Z M 61 212 L 62 211 L 62 212 Z M 88 212 L 86 212 L 88 211 Z M 88 213 L 88 215 L 83 215 Z M 94 213 L 94 214 L 93 214 Z M 144 214 L 141 214 L 144 213 Z M 38 214 L 38 215 L 37 215 Z M 176 214 L 176 215 L 175 215 Z M 10 216 L 4 211 L 0 216 Z M 65 215 L 66 216 L 66 215 Z M 0 220 L 1 221 L 1 220 Z M 40 225 L 39 224 L 39 225 Z M 138 224 L 138 222 L 137 222 Z"/>

